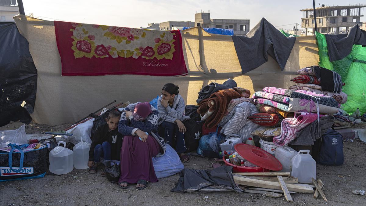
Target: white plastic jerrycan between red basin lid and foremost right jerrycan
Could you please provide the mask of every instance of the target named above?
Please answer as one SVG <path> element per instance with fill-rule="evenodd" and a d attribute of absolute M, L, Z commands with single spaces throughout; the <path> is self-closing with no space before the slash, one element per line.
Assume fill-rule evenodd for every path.
<path fill-rule="evenodd" d="M 283 146 L 277 147 L 275 151 L 275 158 L 282 164 L 282 170 L 279 172 L 291 172 L 291 159 L 298 154 L 298 152 L 291 147 Z"/>

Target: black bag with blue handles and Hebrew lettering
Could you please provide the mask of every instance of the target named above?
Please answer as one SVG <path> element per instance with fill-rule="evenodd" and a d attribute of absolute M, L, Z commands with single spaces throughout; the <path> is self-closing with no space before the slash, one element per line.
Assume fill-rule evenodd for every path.
<path fill-rule="evenodd" d="M 44 177 L 47 171 L 47 147 L 24 152 L 0 153 L 0 182 L 8 180 L 24 180 Z M 11 157 L 10 157 L 11 155 Z M 9 165 L 11 161 L 11 165 Z M 22 165 L 22 169 L 20 169 Z"/>

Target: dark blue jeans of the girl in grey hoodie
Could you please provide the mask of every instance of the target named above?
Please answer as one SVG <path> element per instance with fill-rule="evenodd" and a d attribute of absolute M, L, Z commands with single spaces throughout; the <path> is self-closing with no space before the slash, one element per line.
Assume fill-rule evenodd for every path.
<path fill-rule="evenodd" d="M 180 154 L 187 150 L 186 145 L 184 143 L 184 134 L 183 132 L 179 132 L 179 128 L 177 124 L 171 122 L 162 122 L 160 124 L 161 131 L 164 131 L 164 141 L 174 148 L 173 140 L 176 137 L 176 146 L 175 151 Z"/>

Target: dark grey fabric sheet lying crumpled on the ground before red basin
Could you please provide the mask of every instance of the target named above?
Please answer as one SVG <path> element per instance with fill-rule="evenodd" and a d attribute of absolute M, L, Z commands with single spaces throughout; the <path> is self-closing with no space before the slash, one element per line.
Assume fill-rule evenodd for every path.
<path fill-rule="evenodd" d="M 232 166 L 220 166 L 213 170 L 184 169 L 171 192 L 220 192 L 242 193 L 232 177 Z"/>

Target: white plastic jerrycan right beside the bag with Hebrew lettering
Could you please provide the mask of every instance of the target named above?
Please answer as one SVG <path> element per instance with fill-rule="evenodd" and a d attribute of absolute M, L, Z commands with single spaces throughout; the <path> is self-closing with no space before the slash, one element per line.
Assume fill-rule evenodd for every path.
<path fill-rule="evenodd" d="M 63 147 L 60 144 L 64 144 Z M 74 152 L 66 148 L 66 142 L 59 141 L 57 147 L 49 152 L 49 171 L 54 174 L 67 174 L 74 169 Z"/>

